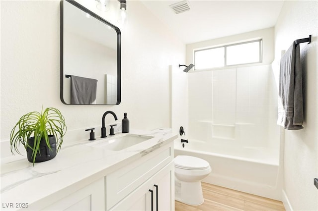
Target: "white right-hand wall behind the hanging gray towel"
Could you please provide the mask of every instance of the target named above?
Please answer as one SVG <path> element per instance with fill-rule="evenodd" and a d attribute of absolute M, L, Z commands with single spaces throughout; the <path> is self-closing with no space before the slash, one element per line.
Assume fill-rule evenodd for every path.
<path fill-rule="evenodd" d="M 275 26 L 275 59 L 296 39 L 313 35 L 312 43 L 300 44 L 304 129 L 285 130 L 284 138 L 284 204 L 286 209 L 318 210 L 318 1 L 285 1 Z M 278 70 L 277 70 L 278 71 Z"/>

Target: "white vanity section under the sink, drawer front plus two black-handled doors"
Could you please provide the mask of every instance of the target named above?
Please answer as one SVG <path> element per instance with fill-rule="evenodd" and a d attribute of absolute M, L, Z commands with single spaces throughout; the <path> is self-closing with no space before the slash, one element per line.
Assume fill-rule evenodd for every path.
<path fill-rule="evenodd" d="M 106 210 L 174 210 L 172 144 L 162 146 L 107 175 L 105 177 Z"/>

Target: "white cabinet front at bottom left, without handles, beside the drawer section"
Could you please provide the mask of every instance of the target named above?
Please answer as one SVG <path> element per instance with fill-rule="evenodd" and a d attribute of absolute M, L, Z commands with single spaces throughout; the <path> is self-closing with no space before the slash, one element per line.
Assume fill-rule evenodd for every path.
<path fill-rule="evenodd" d="M 43 210 L 54 211 L 95 211 L 105 210 L 104 178 L 53 203 Z"/>

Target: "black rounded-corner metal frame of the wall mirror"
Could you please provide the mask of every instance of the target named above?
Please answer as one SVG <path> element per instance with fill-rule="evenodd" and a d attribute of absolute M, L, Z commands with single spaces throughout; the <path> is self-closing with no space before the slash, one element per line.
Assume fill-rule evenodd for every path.
<path fill-rule="evenodd" d="M 117 102 L 115 105 L 119 105 L 121 102 L 121 33 L 120 33 L 120 29 L 117 26 L 109 23 L 108 21 L 106 21 L 105 19 L 100 17 L 99 15 L 90 11 L 86 7 L 82 6 L 81 4 L 76 2 L 75 0 L 66 0 L 66 1 L 70 2 L 74 6 L 81 9 L 82 11 L 88 13 L 90 16 L 96 18 L 97 20 L 112 27 L 116 31 L 116 33 L 117 33 Z M 64 2 L 64 0 L 61 0 L 61 10 L 60 10 L 61 11 L 61 15 L 60 15 L 61 16 L 61 22 L 60 22 L 60 74 L 61 74 L 60 75 L 60 99 L 61 99 L 62 103 L 65 105 L 108 105 L 108 104 L 67 104 L 64 101 L 63 82 L 64 82 L 65 76 L 64 76 L 64 71 L 63 71 L 63 20 L 64 20 L 63 19 L 63 17 L 64 17 L 63 16 L 63 2 Z"/>

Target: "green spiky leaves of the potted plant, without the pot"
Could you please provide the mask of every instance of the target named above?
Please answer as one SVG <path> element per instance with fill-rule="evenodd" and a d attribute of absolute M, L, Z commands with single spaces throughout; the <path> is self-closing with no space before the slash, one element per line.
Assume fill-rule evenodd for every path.
<path fill-rule="evenodd" d="M 49 143 L 49 135 L 56 137 L 57 152 L 61 149 L 63 137 L 66 133 L 67 127 L 65 119 L 60 110 L 54 107 L 48 107 L 41 113 L 32 111 L 24 114 L 16 125 L 11 130 L 10 146 L 11 153 L 14 152 L 22 155 L 19 152 L 19 146 L 22 144 L 25 150 L 32 150 L 33 165 L 36 155 L 40 154 L 40 141 L 45 139 L 45 143 L 51 150 Z M 34 146 L 28 144 L 28 139 L 34 137 Z"/>

